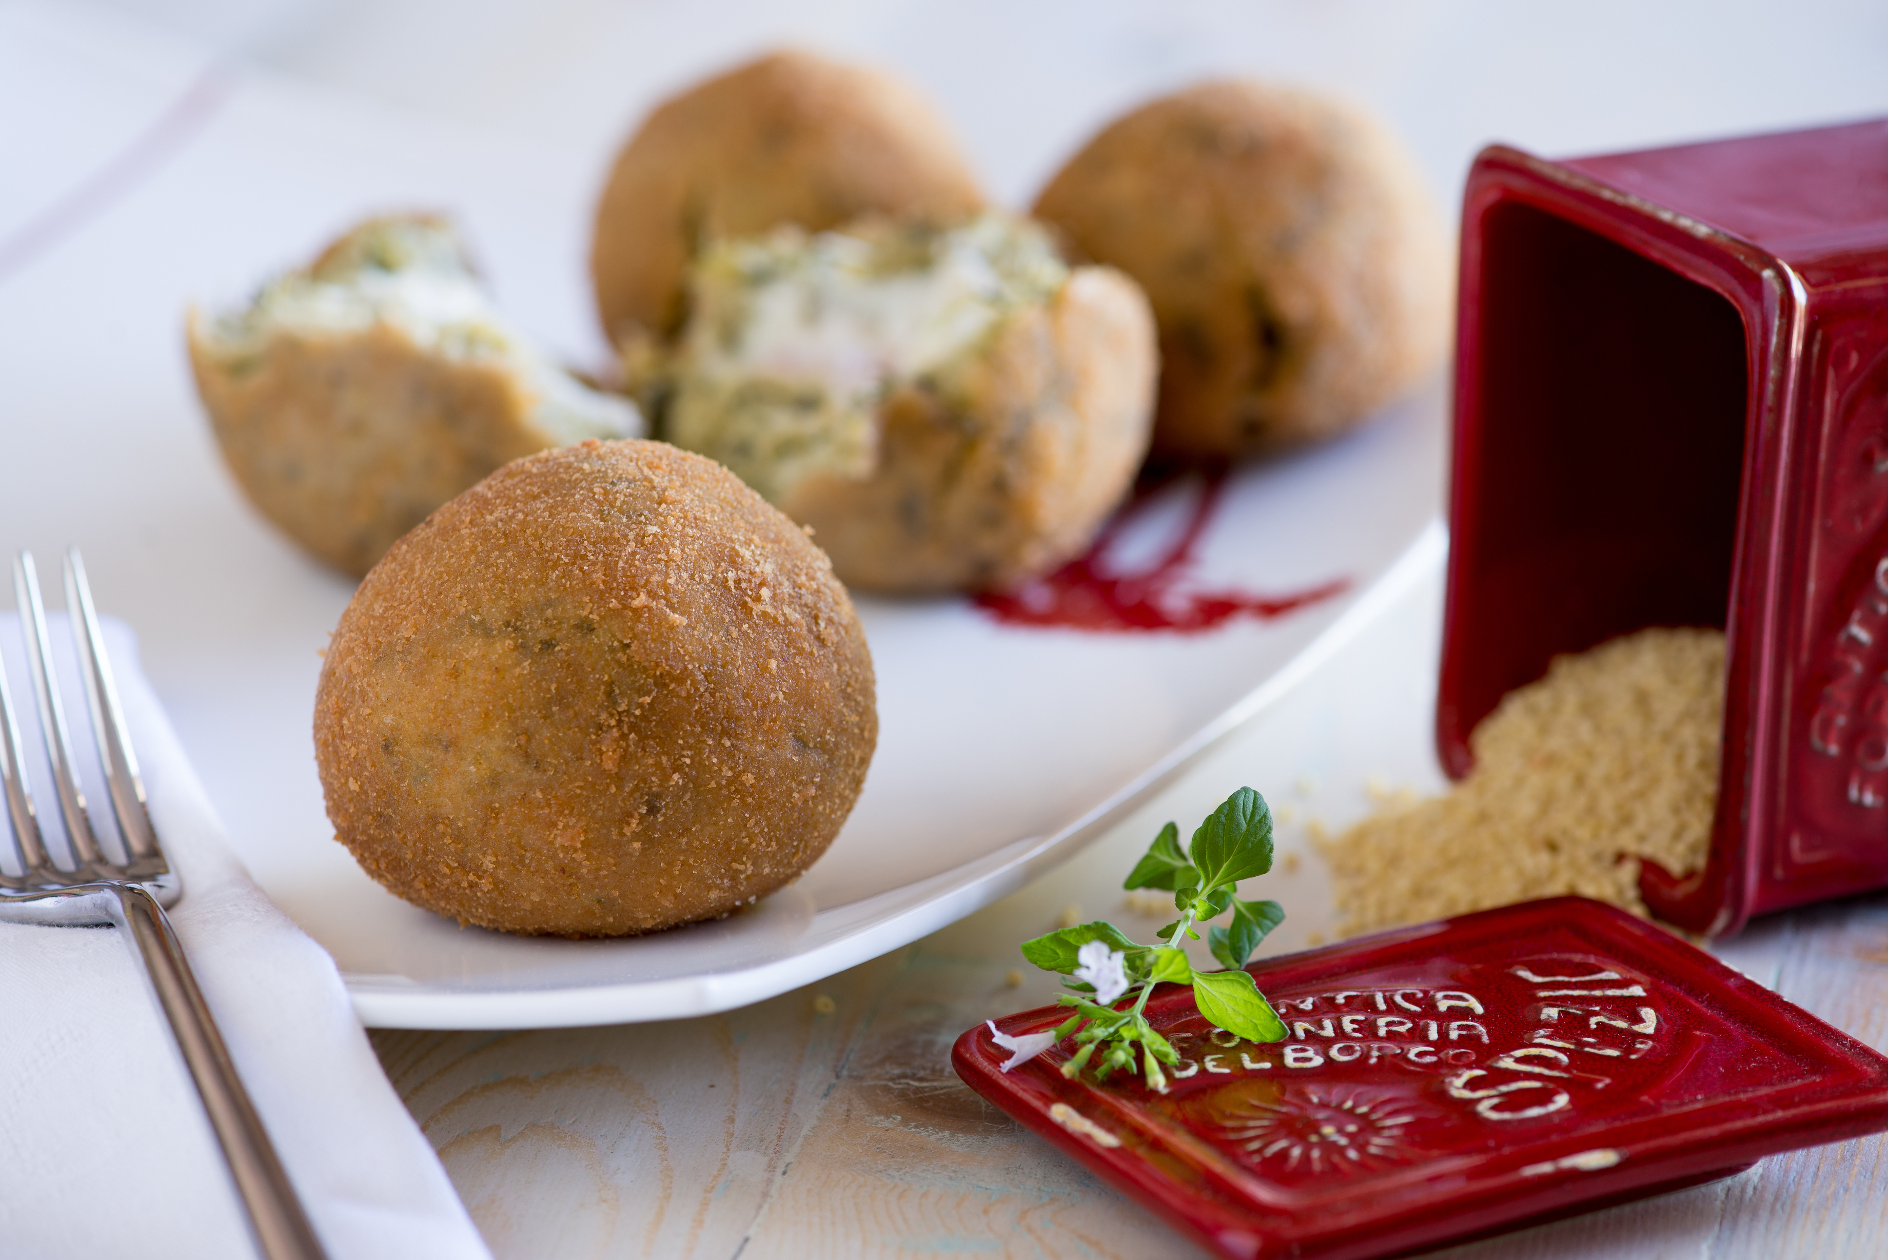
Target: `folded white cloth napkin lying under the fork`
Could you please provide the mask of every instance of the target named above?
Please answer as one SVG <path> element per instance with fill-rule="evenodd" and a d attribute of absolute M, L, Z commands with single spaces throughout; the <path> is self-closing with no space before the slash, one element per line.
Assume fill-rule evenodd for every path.
<path fill-rule="evenodd" d="M 489 1256 L 368 1047 L 327 952 L 230 854 L 223 826 L 106 621 L 151 818 L 183 877 L 170 922 L 334 1260 Z M 64 618 L 51 625 L 70 667 Z M 59 833 L 19 620 L 0 657 L 42 826 Z M 62 693 L 93 814 L 110 814 L 77 671 Z M 102 807 L 102 809 L 100 809 Z M 113 829 L 115 831 L 115 829 Z M 6 822 L 0 820 L 0 837 Z M 11 860 L 9 860 L 11 861 Z M 143 971 L 113 929 L 0 924 L 0 1254 L 255 1254 L 221 1150 Z"/>

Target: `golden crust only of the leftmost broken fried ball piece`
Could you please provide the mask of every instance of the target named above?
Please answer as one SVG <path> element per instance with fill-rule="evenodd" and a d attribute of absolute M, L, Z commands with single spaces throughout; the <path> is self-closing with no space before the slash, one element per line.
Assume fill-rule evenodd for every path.
<path fill-rule="evenodd" d="M 378 323 L 278 332 L 219 351 L 189 321 L 191 368 L 249 501 L 291 538 L 364 574 L 427 512 L 498 465 L 551 446 L 512 368 L 453 363 Z"/>

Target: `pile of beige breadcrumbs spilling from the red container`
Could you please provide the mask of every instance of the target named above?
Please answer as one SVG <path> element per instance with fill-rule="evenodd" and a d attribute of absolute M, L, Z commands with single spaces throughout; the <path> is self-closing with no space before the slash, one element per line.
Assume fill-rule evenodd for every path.
<path fill-rule="evenodd" d="M 1644 914 L 1639 858 L 1705 863 L 1718 797 L 1724 635 L 1648 629 L 1509 693 L 1475 769 L 1318 841 L 1348 933 L 1580 894 Z"/>

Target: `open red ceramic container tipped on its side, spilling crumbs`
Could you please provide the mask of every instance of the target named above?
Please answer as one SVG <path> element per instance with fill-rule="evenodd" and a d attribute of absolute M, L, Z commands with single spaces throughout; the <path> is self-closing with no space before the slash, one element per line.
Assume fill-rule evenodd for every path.
<path fill-rule="evenodd" d="M 1888 121 L 1550 162 L 1461 227 L 1437 739 L 1548 659 L 1728 631 L 1711 861 L 1663 918 L 1888 884 Z"/>

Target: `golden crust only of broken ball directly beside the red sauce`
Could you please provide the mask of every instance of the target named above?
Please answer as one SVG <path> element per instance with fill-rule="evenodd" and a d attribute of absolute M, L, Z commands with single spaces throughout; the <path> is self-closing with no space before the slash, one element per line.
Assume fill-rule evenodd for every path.
<path fill-rule="evenodd" d="M 1154 315 L 1112 268 L 1076 268 L 980 353 L 880 408 L 867 480 L 801 482 L 784 504 L 851 586 L 1014 586 L 1076 555 L 1148 450 Z"/>

